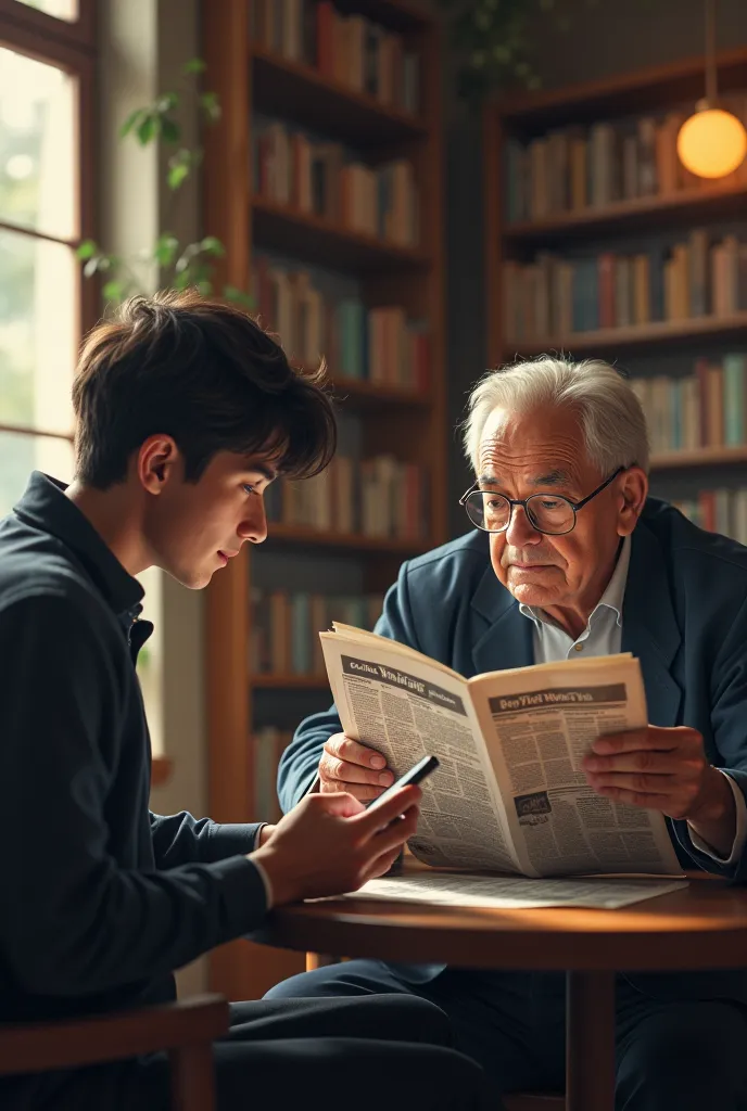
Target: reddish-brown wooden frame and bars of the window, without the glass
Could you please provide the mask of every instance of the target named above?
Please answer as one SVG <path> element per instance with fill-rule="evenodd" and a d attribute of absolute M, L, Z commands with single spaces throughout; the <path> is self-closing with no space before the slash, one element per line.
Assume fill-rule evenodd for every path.
<path fill-rule="evenodd" d="M 76 249 L 86 239 L 96 239 L 96 161 L 94 161 L 94 82 L 97 62 L 94 0 L 78 0 L 79 19 L 76 22 L 57 19 L 21 3 L 20 0 L 0 0 L 0 47 L 4 47 L 36 61 L 56 66 L 77 82 L 74 107 L 76 142 L 78 150 L 76 182 L 76 224 L 70 238 L 50 236 L 33 229 L 19 228 L 0 219 L 0 230 L 30 239 L 63 243 Z M 77 268 L 74 301 L 77 307 L 76 336 L 78 343 L 99 318 L 99 284 L 83 280 L 82 267 Z M 48 429 L 21 424 L 2 424 L 2 432 L 24 436 L 69 436 Z"/>

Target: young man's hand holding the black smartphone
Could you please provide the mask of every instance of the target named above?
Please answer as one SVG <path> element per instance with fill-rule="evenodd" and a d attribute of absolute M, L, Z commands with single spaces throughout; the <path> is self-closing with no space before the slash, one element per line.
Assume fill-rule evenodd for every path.
<path fill-rule="evenodd" d="M 418 787 L 374 810 L 350 794 L 307 794 L 250 853 L 265 869 L 275 907 L 355 891 L 389 871 L 418 823 Z"/>

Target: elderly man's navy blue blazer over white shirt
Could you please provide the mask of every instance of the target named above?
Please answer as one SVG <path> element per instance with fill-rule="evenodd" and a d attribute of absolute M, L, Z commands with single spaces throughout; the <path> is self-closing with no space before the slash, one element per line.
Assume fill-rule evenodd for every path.
<path fill-rule="evenodd" d="M 477 530 L 404 563 L 376 631 L 468 678 L 534 662 L 532 623 L 496 578 Z M 622 651 L 640 660 L 651 724 L 699 730 L 708 760 L 747 795 L 747 548 L 650 498 L 633 534 Z M 283 810 L 308 791 L 325 741 L 340 729 L 333 705 L 301 722 L 280 761 Z M 747 852 L 727 869 L 695 849 L 686 822 L 669 827 L 683 867 L 747 879 Z M 707 994 L 716 980 L 724 993 L 723 974 L 703 977 Z M 747 974 L 737 979 L 726 994 L 747 998 Z"/>

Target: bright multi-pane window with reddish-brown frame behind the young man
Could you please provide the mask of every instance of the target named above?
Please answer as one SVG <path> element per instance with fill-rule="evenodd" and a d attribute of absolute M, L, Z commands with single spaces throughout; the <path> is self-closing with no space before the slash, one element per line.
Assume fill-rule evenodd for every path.
<path fill-rule="evenodd" d="M 72 478 L 93 53 L 90 0 L 0 0 L 0 516 L 33 469 Z"/>

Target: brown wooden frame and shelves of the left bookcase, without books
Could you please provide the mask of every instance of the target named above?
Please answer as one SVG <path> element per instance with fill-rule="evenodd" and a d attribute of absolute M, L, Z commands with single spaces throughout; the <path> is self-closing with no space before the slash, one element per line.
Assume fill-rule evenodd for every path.
<path fill-rule="evenodd" d="M 360 17 L 367 22 L 361 23 Z M 322 20 L 336 24 L 335 34 L 343 28 L 346 36 L 352 36 L 345 39 L 349 49 L 330 57 Z M 376 47 L 379 84 L 368 91 L 357 87 L 357 74 L 346 61 L 353 57 L 355 36 L 361 28 L 384 43 Z M 302 717 L 299 709 L 292 722 L 279 720 L 283 710 L 287 714 L 291 703 L 321 709 L 330 700 L 318 667 L 307 673 L 288 665 L 260 673 L 252 667 L 251 613 L 268 560 L 282 567 L 276 578 L 280 577 L 283 590 L 303 590 L 295 579 L 302 579 L 306 569 L 323 569 L 327 562 L 337 568 L 339 562 L 340 583 L 330 572 L 327 593 L 355 592 L 352 582 L 361 598 L 370 598 L 395 580 L 404 559 L 447 538 L 440 46 L 437 24 L 417 8 L 395 0 L 336 0 L 333 6 L 323 0 L 221 0 L 203 4 L 202 33 L 206 87 L 216 90 L 222 106 L 219 123 L 206 132 L 203 167 L 205 223 L 228 246 L 220 279 L 241 289 L 253 287 L 257 293 L 261 260 L 270 259 L 271 266 L 276 258 L 290 260 L 296 269 L 355 282 L 369 317 L 396 306 L 408 322 L 427 326 L 425 383 L 417 377 L 394 380 L 386 367 L 376 374 L 369 368 L 368 377 L 343 374 L 339 353 L 322 348 L 339 411 L 351 422 L 346 451 L 351 450 L 352 436 L 360 460 L 389 456 L 427 473 L 426 533 L 419 539 L 406 539 L 396 530 L 370 534 L 360 519 L 347 527 L 335 520 L 326 528 L 281 519 L 269 523 L 266 544 L 251 551 L 247 546 L 207 591 L 209 812 L 218 821 L 241 822 L 256 817 L 258 784 L 271 780 L 267 761 L 277 751 L 271 758 L 267 753 L 285 743 L 288 730 Z M 339 46 L 339 39 L 332 41 Z M 385 53 L 395 58 L 391 64 L 400 74 L 397 97 L 388 96 L 382 83 Z M 416 110 L 400 102 L 407 83 L 402 74 L 412 64 L 402 60 L 405 56 L 417 59 Z M 347 71 L 341 72 L 340 66 Z M 370 69 L 367 72 L 370 80 Z M 411 80 L 409 90 L 411 96 Z M 261 137 L 277 126 L 288 130 L 291 147 L 296 136 L 308 143 L 337 144 L 343 163 L 353 160 L 362 177 L 386 173 L 389 164 L 407 161 L 418 194 L 417 241 L 362 231 L 345 213 L 320 211 L 318 204 L 311 209 L 298 197 L 280 198 L 258 189 L 266 170 Z M 291 189 L 296 188 L 300 187 L 293 178 Z M 267 304 L 263 296 L 258 298 L 260 310 Z M 267 320 L 267 314 L 260 311 L 283 341 L 278 321 Z M 252 738 L 268 732 L 272 735 L 267 743 L 263 737 L 262 743 L 252 745 Z M 297 955 L 236 942 L 213 954 L 211 985 L 229 998 L 258 998 L 302 967 Z"/>

